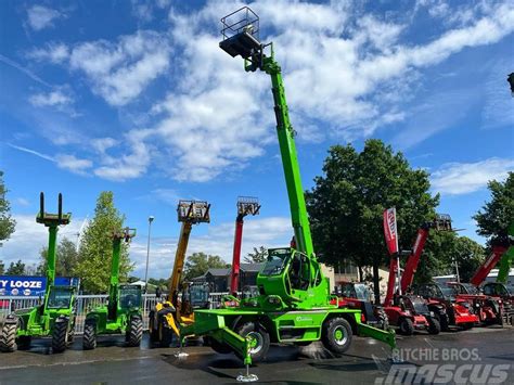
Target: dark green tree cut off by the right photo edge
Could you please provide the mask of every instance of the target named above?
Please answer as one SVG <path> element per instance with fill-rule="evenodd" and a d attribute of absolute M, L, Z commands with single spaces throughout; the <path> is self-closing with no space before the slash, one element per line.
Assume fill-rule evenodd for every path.
<path fill-rule="evenodd" d="M 487 238 L 506 238 L 509 226 L 514 220 L 514 172 L 509 172 L 504 182 L 488 183 L 491 201 L 473 217 L 478 224 L 477 233 Z"/>

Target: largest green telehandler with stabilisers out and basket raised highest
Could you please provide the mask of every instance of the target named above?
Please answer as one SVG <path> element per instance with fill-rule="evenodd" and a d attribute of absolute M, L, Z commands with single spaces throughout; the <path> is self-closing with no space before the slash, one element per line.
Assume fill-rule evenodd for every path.
<path fill-rule="evenodd" d="M 221 20 L 220 48 L 235 57 L 241 55 L 247 72 L 257 69 L 271 78 L 280 152 L 286 181 L 295 245 L 271 248 L 257 275 L 259 296 L 239 307 L 195 310 L 195 322 L 180 330 L 189 335 L 208 336 L 211 348 L 220 354 L 235 352 L 246 364 L 240 381 L 256 381 L 248 373 L 253 361 L 264 360 L 271 343 L 308 345 L 321 341 L 334 355 L 344 354 L 352 335 L 369 335 L 396 346 L 395 333 L 361 323 L 358 309 L 331 305 L 329 280 L 316 257 L 293 129 L 285 99 L 281 67 L 272 43 L 259 41 L 259 17 L 248 7 Z M 269 48 L 269 52 L 268 52 Z M 266 52 L 265 52 L 266 51 Z"/>

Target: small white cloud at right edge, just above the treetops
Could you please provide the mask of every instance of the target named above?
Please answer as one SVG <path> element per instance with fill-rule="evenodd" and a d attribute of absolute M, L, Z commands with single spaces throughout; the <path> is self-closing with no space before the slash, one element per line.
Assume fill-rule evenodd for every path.
<path fill-rule="evenodd" d="M 513 170 L 512 158 L 491 157 L 477 163 L 449 163 L 432 174 L 432 188 L 441 194 L 467 194 L 487 188 L 490 180 L 503 180 Z"/>

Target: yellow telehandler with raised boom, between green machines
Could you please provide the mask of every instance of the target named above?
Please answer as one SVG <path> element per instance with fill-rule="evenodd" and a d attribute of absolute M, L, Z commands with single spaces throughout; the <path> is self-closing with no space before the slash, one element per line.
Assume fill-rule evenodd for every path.
<path fill-rule="evenodd" d="M 182 270 L 193 224 L 210 222 L 210 204 L 205 201 L 179 201 L 178 220 L 182 222 L 168 295 L 150 311 L 150 338 L 160 347 L 169 347 L 174 334 L 180 335 L 181 324 L 194 322 L 195 307 L 208 308 L 209 287 L 182 283 Z M 194 299 L 194 301 L 192 300 Z"/>

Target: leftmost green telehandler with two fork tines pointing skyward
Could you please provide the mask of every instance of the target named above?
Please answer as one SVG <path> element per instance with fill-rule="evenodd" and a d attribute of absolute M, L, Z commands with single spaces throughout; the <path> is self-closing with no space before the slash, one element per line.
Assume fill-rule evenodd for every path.
<path fill-rule="evenodd" d="M 44 213 L 44 194 L 40 194 L 38 223 L 49 230 L 47 288 L 41 305 L 18 309 L 8 316 L 0 335 L 0 350 L 28 349 L 33 337 L 52 337 L 52 351 L 62 352 L 73 343 L 76 315 L 76 287 L 55 285 L 56 238 L 59 226 L 69 223 L 72 214 L 63 214 L 63 196 L 59 194 L 57 214 Z"/>

